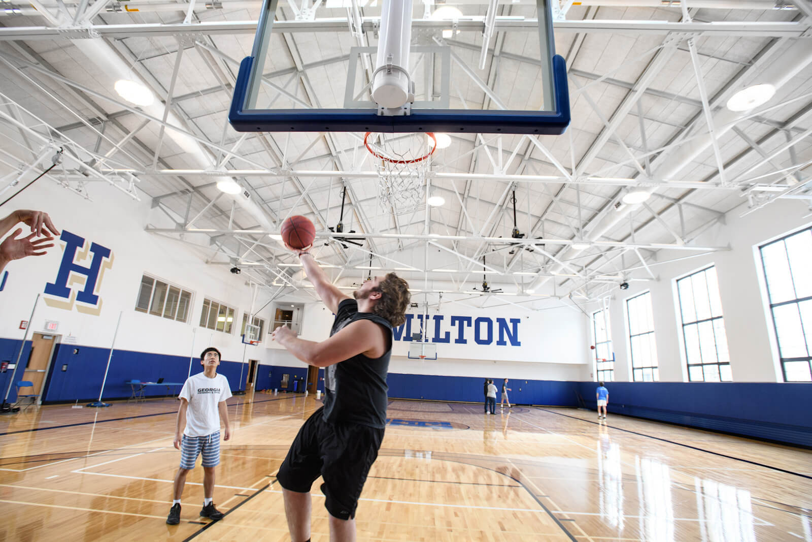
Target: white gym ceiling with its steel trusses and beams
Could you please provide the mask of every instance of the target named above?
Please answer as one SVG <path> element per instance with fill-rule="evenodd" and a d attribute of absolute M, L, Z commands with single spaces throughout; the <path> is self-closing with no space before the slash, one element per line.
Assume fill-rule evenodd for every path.
<path fill-rule="evenodd" d="M 457 21 L 454 38 L 441 38 L 434 20 L 413 28 L 450 47 L 461 68 L 451 93 L 506 109 L 512 92 L 532 84 L 522 72 L 538 61 L 518 37 L 538 26 L 516 15 L 528 2 L 497 3 L 489 40 L 484 13 Z M 193 245 L 213 265 L 241 267 L 275 293 L 313 295 L 274 239 L 283 219 L 305 215 L 318 260 L 342 288 L 395 269 L 427 302 L 443 293 L 523 310 L 600 299 L 621 282 L 656 280 L 664 262 L 728 249 L 701 236 L 742 204 L 739 214 L 778 198 L 812 202 L 809 0 L 573 3 L 554 10 L 568 132 L 452 134 L 421 188 L 447 203 L 402 213 L 378 206 L 363 134 L 240 134 L 227 124 L 260 2 L 0 2 L 0 193 L 14 193 L 62 149 L 40 182 L 89 199 L 99 183 L 152 199 L 149 232 Z M 271 98 L 330 102 L 325 71 L 346 69 L 348 47 L 375 42 L 378 18 L 359 9 L 353 21 L 325 4 L 280 7 L 281 49 L 262 81 Z M 122 71 L 156 103 L 120 98 L 112 83 Z M 760 82 L 776 86 L 769 102 L 726 108 Z M 223 179 L 244 193 L 223 194 Z M 631 190 L 652 195 L 625 205 Z M 343 232 L 331 232 L 342 212 Z"/>

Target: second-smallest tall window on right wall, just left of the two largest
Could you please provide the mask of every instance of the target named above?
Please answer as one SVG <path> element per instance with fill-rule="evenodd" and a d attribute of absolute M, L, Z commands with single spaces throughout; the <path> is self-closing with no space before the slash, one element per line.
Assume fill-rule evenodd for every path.
<path fill-rule="evenodd" d="M 651 314 L 651 293 L 626 300 L 628 316 L 628 342 L 632 353 L 632 379 L 634 382 L 659 380 L 657 348 L 654 344 L 654 317 Z"/>

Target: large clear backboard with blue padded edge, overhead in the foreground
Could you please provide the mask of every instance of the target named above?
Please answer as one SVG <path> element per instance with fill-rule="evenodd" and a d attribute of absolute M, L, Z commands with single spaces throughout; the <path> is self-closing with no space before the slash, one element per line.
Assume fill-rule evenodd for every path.
<path fill-rule="evenodd" d="M 550 2 L 413 0 L 411 20 L 393 23 L 400 0 L 264 0 L 229 121 L 239 132 L 561 134 L 569 97 Z M 506 41 L 522 54 L 504 53 Z M 279 69 L 292 50 L 297 70 Z M 399 76 L 406 98 L 392 106 L 380 81 Z"/>

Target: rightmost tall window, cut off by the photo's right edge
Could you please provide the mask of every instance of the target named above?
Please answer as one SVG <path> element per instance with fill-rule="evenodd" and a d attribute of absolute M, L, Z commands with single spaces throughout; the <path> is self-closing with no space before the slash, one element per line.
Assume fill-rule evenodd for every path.
<path fill-rule="evenodd" d="M 786 382 L 810 382 L 812 228 L 759 247 Z"/>

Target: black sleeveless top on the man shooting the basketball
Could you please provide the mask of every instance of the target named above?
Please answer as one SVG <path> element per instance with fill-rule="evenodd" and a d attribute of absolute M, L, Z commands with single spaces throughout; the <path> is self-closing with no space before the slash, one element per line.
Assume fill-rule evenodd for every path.
<path fill-rule="evenodd" d="M 358 312 L 358 302 L 345 299 L 339 303 L 330 336 L 356 320 L 372 320 L 386 327 L 387 319 L 369 312 Z M 367 358 L 359 353 L 343 362 L 330 365 L 324 371 L 324 419 L 331 423 L 361 423 L 369 427 L 385 427 L 387 418 L 387 372 L 392 353 L 389 349 L 380 358 Z"/>

